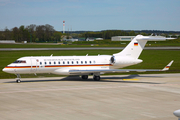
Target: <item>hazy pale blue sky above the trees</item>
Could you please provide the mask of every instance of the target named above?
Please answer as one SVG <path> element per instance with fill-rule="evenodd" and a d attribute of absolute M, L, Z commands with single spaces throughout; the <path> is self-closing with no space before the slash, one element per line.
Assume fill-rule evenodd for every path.
<path fill-rule="evenodd" d="M 0 0 L 0 30 L 49 24 L 57 31 L 180 31 L 180 0 Z"/>

